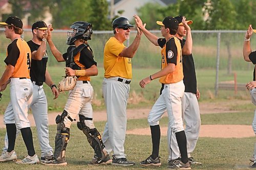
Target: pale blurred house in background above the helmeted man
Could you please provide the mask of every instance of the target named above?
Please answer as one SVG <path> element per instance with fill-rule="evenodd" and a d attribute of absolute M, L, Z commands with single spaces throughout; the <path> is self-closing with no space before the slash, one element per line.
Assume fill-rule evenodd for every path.
<path fill-rule="evenodd" d="M 118 11 L 123 11 L 121 16 L 133 19 L 133 15 L 137 14 L 137 9 L 147 3 L 155 3 L 161 6 L 167 6 L 169 4 L 176 3 L 177 0 L 108 0 L 110 2 L 110 18 L 113 18 L 118 14 Z"/>

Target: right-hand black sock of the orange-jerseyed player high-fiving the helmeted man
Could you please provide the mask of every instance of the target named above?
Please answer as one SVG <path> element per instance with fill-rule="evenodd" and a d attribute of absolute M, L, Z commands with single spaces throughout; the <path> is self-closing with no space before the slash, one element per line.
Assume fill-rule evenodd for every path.
<path fill-rule="evenodd" d="M 176 132 L 175 135 L 180 149 L 181 161 L 187 163 L 187 139 L 185 131 Z"/>

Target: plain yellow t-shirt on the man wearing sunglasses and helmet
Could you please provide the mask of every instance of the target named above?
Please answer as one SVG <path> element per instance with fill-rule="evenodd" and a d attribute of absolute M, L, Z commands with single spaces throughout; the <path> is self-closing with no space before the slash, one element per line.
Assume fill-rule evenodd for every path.
<path fill-rule="evenodd" d="M 104 69 L 105 78 L 122 77 L 132 79 L 132 60 L 131 58 L 120 57 L 119 54 L 125 48 L 124 44 L 115 37 L 111 37 L 104 47 Z"/>

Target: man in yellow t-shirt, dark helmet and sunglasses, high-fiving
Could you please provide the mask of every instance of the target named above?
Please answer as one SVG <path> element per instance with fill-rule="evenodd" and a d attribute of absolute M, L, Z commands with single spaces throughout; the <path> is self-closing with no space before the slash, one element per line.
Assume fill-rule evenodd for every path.
<path fill-rule="evenodd" d="M 126 106 L 132 79 L 132 58 L 140 43 L 142 32 L 137 28 L 133 43 L 126 47 L 123 42 L 129 39 L 131 27 L 129 20 L 118 17 L 112 22 L 114 37 L 104 47 L 104 80 L 102 91 L 106 105 L 107 122 L 102 140 L 106 151 L 113 151 L 113 165 L 130 166 L 135 162 L 128 161 L 124 154 L 126 133 Z M 142 26 L 143 27 L 143 26 Z"/>

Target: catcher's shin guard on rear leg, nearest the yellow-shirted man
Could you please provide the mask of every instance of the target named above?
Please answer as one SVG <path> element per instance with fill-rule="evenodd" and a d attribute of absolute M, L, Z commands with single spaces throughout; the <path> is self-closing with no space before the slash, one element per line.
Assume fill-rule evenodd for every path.
<path fill-rule="evenodd" d="M 85 119 L 86 117 L 84 117 L 83 115 L 79 115 L 80 122 L 77 122 L 77 128 L 87 136 L 88 142 L 90 143 L 91 147 L 94 149 L 94 152 L 95 152 L 94 157 L 104 159 L 108 154 L 104 150 L 105 146 L 101 139 L 100 133 L 96 128 L 90 129 L 89 127 L 87 127 L 86 124 L 84 123 Z"/>

